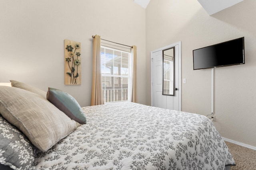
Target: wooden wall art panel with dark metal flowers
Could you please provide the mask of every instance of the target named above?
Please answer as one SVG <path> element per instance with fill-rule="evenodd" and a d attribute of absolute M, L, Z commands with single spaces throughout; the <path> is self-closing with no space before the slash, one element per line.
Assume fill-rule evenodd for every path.
<path fill-rule="evenodd" d="M 65 39 L 65 84 L 81 84 L 81 43 Z"/>

